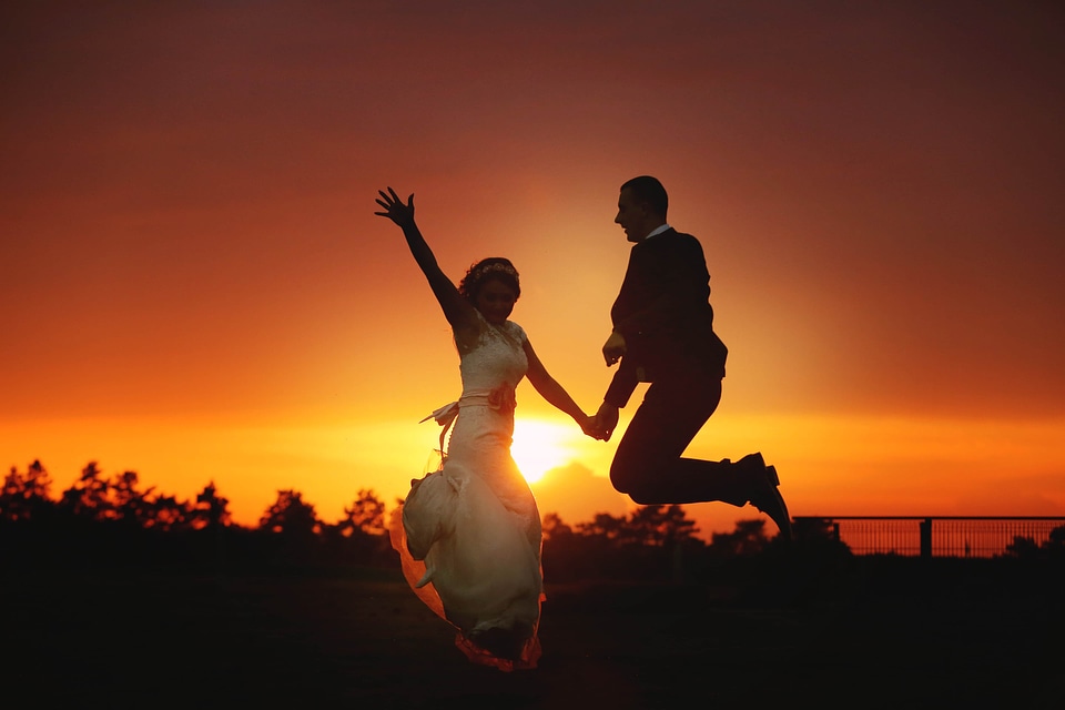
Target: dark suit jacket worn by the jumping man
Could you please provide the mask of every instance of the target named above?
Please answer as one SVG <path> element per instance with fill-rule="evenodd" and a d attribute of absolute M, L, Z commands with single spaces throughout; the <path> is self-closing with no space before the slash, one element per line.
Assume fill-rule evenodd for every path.
<path fill-rule="evenodd" d="M 626 354 L 604 399 L 628 404 L 663 373 L 724 377 L 728 348 L 713 332 L 710 273 L 699 240 L 670 229 L 632 246 L 610 310 Z"/>

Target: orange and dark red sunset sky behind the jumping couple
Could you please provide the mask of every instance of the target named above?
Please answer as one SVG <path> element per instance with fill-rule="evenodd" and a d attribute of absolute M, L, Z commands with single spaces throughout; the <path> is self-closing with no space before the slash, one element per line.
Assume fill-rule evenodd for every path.
<path fill-rule="evenodd" d="M 515 262 L 595 412 L 648 173 L 730 348 L 689 455 L 762 452 L 793 515 L 1065 515 L 1063 38 L 1023 0 L 6 3 L 0 465 L 390 506 L 460 384 L 376 191 L 454 280 Z M 528 383 L 517 426 L 542 513 L 629 508 L 616 440 Z"/>

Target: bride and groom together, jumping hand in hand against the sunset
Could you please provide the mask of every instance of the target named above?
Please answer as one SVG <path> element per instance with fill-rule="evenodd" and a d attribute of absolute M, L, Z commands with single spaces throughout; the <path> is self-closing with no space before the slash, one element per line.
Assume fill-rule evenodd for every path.
<path fill-rule="evenodd" d="M 510 456 L 523 377 L 602 440 L 637 385 L 650 383 L 610 466 L 615 488 L 642 505 L 751 504 L 790 538 L 777 470 L 761 454 L 736 463 L 681 456 L 721 399 L 728 349 L 713 332 L 702 246 L 667 223 L 668 196 L 657 179 L 633 178 L 618 196 L 615 222 L 632 247 L 602 346 L 617 371 L 595 415 L 577 406 L 509 320 L 521 290 L 508 260 L 474 264 L 456 286 L 415 223 L 414 195 L 404 202 L 388 187 L 376 202 L 382 211 L 374 214 L 403 230 L 452 326 L 463 383 L 462 397 L 433 413 L 450 427 L 444 463 L 412 481 L 393 545 L 412 587 L 458 629 L 456 643 L 471 660 L 511 670 L 534 668 L 540 655 L 540 517 Z"/>

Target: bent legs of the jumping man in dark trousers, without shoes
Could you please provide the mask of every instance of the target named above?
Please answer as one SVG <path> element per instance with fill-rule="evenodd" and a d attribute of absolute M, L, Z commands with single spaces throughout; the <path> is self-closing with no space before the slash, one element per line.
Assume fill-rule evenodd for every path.
<path fill-rule="evenodd" d="M 610 481 L 641 505 L 747 503 L 732 464 L 681 458 L 721 400 L 720 378 L 670 377 L 653 383 L 618 444 Z"/>

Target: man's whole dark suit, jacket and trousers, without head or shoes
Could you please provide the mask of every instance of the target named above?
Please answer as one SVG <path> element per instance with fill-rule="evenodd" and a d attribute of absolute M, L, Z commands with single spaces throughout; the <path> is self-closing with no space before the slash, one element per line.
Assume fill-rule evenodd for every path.
<path fill-rule="evenodd" d="M 621 408 L 638 383 L 651 383 L 610 467 L 613 486 L 637 503 L 747 501 L 733 464 L 681 458 L 721 398 L 728 348 L 709 297 L 696 237 L 668 229 L 632 246 L 610 311 L 626 353 L 604 399 Z"/>

